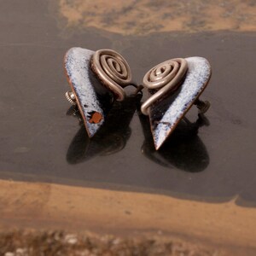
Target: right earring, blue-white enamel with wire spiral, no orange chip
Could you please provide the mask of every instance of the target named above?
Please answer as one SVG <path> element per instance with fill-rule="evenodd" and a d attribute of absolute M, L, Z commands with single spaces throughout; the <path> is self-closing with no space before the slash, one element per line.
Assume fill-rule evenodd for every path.
<path fill-rule="evenodd" d="M 151 68 L 143 78 L 150 97 L 141 111 L 149 116 L 156 150 L 172 134 L 193 104 L 199 113 L 206 113 L 210 102 L 199 96 L 211 78 L 211 66 L 202 57 L 177 58 Z"/>

